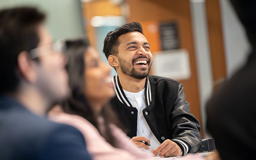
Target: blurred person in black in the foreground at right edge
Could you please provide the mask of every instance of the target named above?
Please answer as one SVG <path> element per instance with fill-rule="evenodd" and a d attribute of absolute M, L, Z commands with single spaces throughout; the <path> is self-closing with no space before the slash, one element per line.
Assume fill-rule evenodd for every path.
<path fill-rule="evenodd" d="M 231 0 L 252 51 L 247 63 L 207 104 L 207 128 L 223 160 L 255 159 L 256 150 L 256 1 Z"/>

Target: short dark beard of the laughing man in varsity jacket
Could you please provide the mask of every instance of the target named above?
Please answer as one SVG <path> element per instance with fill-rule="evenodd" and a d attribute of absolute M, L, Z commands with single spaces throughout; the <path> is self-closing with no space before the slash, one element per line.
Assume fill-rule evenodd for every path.
<path fill-rule="evenodd" d="M 138 57 L 137 59 L 139 59 L 139 58 L 144 58 L 144 57 Z M 128 75 L 135 79 L 143 79 L 149 75 L 149 71 L 150 71 L 150 68 L 152 65 L 152 63 L 150 64 L 150 60 L 148 62 L 148 65 L 150 64 L 149 68 L 148 69 L 143 68 L 141 71 L 138 71 L 134 68 L 133 62 L 135 60 L 132 60 L 132 69 L 130 69 L 130 70 L 129 70 L 129 68 L 131 68 L 131 65 L 125 59 L 118 58 L 118 60 L 120 62 L 120 68 L 125 75 Z"/>

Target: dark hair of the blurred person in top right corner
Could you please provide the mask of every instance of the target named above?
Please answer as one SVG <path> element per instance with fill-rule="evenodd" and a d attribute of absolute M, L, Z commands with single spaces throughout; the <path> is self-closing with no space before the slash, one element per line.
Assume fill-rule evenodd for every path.
<path fill-rule="evenodd" d="M 256 44 L 256 1 L 230 0 L 230 2 L 244 25 L 250 43 L 254 46 Z"/>

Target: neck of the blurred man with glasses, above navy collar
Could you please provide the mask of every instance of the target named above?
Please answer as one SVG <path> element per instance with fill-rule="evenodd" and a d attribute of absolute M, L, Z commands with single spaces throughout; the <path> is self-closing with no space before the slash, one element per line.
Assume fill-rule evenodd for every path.
<path fill-rule="evenodd" d="M 19 90 L 12 94 L 25 108 L 30 112 L 43 116 L 48 108 L 48 101 L 33 87 L 20 87 Z"/>

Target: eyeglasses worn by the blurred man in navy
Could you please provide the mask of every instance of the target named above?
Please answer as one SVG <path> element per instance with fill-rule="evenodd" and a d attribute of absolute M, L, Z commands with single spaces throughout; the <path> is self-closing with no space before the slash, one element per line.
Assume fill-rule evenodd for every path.
<path fill-rule="evenodd" d="M 31 59 L 36 59 L 49 54 L 62 53 L 65 50 L 66 50 L 65 40 L 63 38 L 60 38 L 53 44 L 37 47 L 30 50 L 29 54 Z"/>

